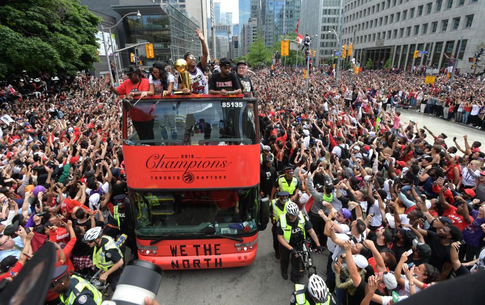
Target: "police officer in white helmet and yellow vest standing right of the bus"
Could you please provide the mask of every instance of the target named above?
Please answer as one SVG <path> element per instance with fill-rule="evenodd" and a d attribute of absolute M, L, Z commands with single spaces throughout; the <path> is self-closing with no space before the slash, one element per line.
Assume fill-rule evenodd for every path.
<path fill-rule="evenodd" d="M 298 259 L 298 250 L 303 249 L 303 243 L 307 239 L 307 233 L 310 234 L 311 239 L 317 244 L 319 252 L 323 251 L 323 247 L 318 241 L 317 235 L 313 231 L 310 220 L 307 216 L 298 209 L 298 206 L 289 202 L 286 206 L 286 213 L 279 217 L 276 223 L 276 234 L 280 243 L 280 265 L 281 276 L 283 279 L 288 279 L 288 265 L 291 256 L 291 281 L 296 283 L 300 273 L 300 260 Z"/>

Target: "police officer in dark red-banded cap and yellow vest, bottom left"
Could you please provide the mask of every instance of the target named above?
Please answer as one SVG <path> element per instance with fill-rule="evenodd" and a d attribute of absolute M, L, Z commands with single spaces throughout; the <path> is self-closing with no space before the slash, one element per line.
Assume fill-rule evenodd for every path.
<path fill-rule="evenodd" d="M 103 301 L 101 292 L 91 283 L 76 275 L 69 277 L 65 265 L 54 269 L 51 287 L 65 305 L 101 305 Z"/>

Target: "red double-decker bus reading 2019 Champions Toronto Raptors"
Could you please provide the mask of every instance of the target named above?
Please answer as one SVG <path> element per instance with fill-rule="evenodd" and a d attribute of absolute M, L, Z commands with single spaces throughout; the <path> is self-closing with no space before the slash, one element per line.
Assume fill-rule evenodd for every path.
<path fill-rule="evenodd" d="M 164 270 L 251 264 L 268 221 L 256 100 L 153 96 L 123 105 L 139 257 Z"/>

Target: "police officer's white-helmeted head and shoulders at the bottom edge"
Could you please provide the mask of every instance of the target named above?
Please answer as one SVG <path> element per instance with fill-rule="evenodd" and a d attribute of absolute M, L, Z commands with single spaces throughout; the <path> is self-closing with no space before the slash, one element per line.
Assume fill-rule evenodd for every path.
<path fill-rule="evenodd" d="M 295 284 L 295 291 L 291 294 L 290 305 L 330 305 L 332 297 L 328 293 L 323 279 L 317 274 L 312 274 L 307 285 Z"/>

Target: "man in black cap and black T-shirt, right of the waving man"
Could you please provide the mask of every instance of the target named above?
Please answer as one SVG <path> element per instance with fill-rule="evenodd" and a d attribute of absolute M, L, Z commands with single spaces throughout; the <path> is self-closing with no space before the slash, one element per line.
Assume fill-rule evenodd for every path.
<path fill-rule="evenodd" d="M 231 63 L 227 58 L 222 58 L 220 63 L 221 73 L 214 73 L 210 78 L 209 94 L 220 94 L 222 96 L 240 94 L 239 80 L 236 74 L 230 73 Z"/>

